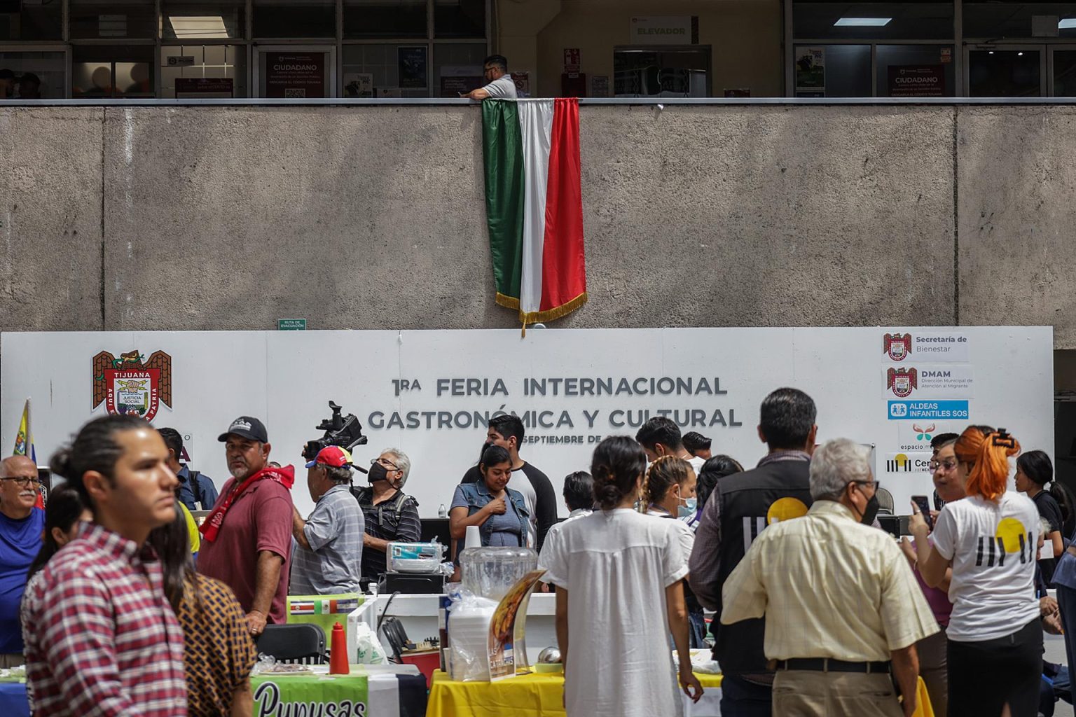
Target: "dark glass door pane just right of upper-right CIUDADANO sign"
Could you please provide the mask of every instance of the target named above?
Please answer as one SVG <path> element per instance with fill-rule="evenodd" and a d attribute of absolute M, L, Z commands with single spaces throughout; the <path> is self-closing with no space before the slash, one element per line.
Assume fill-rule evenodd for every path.
<path fill-rule="evenodd" d="M 1046 97 L 1046 45 L 976 45 L 964 51 L 968 97 Z"/>

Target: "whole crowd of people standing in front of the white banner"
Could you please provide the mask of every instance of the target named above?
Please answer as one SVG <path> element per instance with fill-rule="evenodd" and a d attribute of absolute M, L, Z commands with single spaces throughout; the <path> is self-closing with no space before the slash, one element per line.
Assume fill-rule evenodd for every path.
<path fill-rule="evenodd" d="M 565 477 L 558 522 L 552 483 L 520 456 L 523 422 L 499 416 L 455 487 L 453 556 L 470 526 L 538 551 L 569 715 L 680 714 L 680 691 L 703 689 L 690 649 L 711 643 L 731 716 L 908 716 L 920 678 L 939 715 L 1071 700 L 1066 666 L 1043 659 L 1044 630 L 1076 629 L 1076 515 L 1047 455 L 989 426 L 935 436 L 936 510 L 912 502 L 897 540 L 877 520 L 869 449 L 817 432 L 809 396 L 773 391 L 768 453 L 744 470 L 652 418 Z M 287 596 L 360 591 L 388 543 L 420 540 L 398 448 L 368 469 L 323 448 L 303 517 L 260 420 L 218 440 L 218 493 L 181 463 L 178 431 L 131 416 L 86 424 L 53 456 L 65 483 L 44 510 L 33 461 L 0 461 L 0 666 L 25 662 L 37 714 L 250 715 L 256 641 Z"/>

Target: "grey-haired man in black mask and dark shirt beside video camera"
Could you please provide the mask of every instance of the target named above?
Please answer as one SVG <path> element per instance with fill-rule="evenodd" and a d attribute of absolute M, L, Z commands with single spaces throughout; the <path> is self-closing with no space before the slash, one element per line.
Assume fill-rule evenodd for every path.
<path fill-rule="evenodd" d="M 402 491 L 411 459 L 398 448 L 385 448 L 370 461 L 370 485 L 352 488 L 366 518 L 363 539 L 363 579 L 377 580 L 386 570 L 388 544 L 417 543 L 422 539 L 419 501 Z"/>

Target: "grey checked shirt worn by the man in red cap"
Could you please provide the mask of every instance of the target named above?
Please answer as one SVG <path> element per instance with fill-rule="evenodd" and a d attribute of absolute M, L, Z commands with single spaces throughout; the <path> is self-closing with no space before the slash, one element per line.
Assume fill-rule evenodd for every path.
<path fill-rule="evenodd" d="M 310 548 L 292 554 L 291 594 L 358 592 L 363 565 L 363 511 L 346 485 L 332 486 L 317 501 L 302 533 Z"/>

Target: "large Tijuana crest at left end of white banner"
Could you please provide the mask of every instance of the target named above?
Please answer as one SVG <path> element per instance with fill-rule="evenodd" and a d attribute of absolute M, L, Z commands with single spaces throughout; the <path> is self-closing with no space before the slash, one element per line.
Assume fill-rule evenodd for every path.
<path fill-rule="evenodd" d="M 109 352 L 94 357 L 94 405 L 105 411 L 153 420 L 164 403 L 172 407 L 172 357 L 154 352 L 146 359 L 137 349 L 116 358 Z"/>

